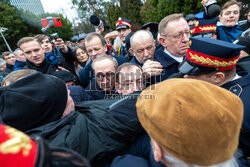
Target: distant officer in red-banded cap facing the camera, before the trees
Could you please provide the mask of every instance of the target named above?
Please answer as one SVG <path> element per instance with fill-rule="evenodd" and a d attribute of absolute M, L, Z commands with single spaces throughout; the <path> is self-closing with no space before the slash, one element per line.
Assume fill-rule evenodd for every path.
<path fill-rule="evenodd" d="M 118 31 L 118 35 L 120 39 L 122 40 L 122 46 L 119 48 L 118 56 L 128 56 L 128 51 L 126 49 L 126 36 L 131 32 L 131 20 L 124 19 L 119 17 L 117 20 L 116 24 L 116 29 Z"/>

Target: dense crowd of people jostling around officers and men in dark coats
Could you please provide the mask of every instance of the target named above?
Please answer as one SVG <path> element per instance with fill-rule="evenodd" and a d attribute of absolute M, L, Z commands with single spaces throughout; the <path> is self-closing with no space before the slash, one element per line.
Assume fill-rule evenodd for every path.
<path fill-rule="evenodd" d="M 238 25 L 240 2 L 201 3 L 158 35 L 119 18 L 113 47 L 19 39 L 0 59 L 1 166 L 250 166 L 250 9 Z"/>

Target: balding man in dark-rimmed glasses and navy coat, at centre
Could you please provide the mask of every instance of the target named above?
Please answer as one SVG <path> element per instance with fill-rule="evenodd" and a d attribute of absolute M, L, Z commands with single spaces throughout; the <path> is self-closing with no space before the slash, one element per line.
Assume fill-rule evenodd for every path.
<path fill-rule="evenodd" d="M 118 63 L 109 55 L 100 55 L 91 63 L 94 78 L 86 88 L 69 86 L 70 95 L 74 102 L 104 99 L 116 94 L 115 72 Z"/>

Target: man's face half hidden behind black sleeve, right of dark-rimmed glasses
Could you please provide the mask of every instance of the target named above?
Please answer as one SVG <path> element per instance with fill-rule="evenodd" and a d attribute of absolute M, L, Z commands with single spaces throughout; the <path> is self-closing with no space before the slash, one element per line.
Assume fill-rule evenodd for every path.
<path fill-rule="evenodd" d="M 142 70 L 136 66 L 124 67 L 119 72 L 119 83 L 116 90 L 119 94 L 128 95 L 145 88 Z"/>

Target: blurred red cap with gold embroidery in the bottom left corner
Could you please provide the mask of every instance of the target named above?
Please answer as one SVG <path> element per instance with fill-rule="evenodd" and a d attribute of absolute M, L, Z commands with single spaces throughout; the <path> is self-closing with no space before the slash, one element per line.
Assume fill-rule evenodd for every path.
<path fill-rule="evenodd" d="M 70 149 L 51 147 L 40 137 L 33 140 L 3 124 L 0 124 L 0 164 L 8 167 L 90 167 L 86 158 Z"/>

